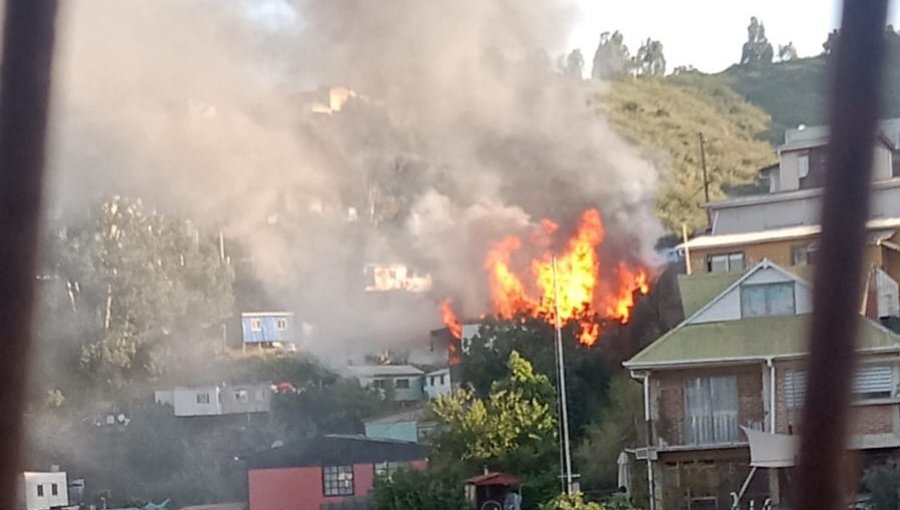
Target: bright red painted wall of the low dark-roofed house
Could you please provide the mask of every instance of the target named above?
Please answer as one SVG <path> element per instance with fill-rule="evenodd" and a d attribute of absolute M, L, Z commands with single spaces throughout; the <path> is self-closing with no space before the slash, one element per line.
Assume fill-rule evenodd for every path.
<path fill-rule="evenodd" d="M 413 461 L 425 469 L 427 461 Z M 344 497 L 322 494 L 322 468 L 253 469 L 247 474 L 250 510 L 319 510 L 322 503 L 337 503 Z M 375 481 L 374 464 L 353 466 L 353 498 L 364 498 Z"/>

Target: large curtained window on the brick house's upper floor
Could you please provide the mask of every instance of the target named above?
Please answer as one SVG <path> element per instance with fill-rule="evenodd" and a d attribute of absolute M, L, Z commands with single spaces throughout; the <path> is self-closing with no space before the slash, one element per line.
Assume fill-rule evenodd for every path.
<path fill-rule="evenodd" d="M 685 439 L 689 444 L 738 440 L 737 378 L 694 377 L 685 388 Z"/>

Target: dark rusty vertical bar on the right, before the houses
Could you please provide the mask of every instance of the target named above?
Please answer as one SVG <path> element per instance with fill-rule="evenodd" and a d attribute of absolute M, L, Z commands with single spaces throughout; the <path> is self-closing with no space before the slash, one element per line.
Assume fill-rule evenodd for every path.
<path fill-rule="evenodd" d="M 887 0 L 844 0 L 832 56 L 831 135 L 797 469 L 798 510 L 846 508 L 843 460 L 886 14 Z"/>

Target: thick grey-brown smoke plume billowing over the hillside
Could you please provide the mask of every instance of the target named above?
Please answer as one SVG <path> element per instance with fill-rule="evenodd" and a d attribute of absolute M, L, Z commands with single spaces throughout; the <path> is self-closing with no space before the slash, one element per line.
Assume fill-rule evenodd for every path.
<path fill-rule="evenodd" d="M 118 193 L 221 229 L 340 356 L 427 337 L 444 295 L 485 311 L 490 241 L 542 217 L 596 207 L 602 255 L 649 261 L 658 173 L 547 56 L 571 4 L 66 2 L 51 217 Z M 392 262 L 434 291 L 363 292 Z"/>

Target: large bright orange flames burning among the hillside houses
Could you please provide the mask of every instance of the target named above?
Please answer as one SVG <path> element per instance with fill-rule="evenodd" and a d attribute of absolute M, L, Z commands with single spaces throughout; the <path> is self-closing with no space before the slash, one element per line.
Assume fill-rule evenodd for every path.
<path fill-rule="evenodd" d="M 551 238 L 557 230 L 556 223 L 544 220 L 529 241 L 544 244 L 541 240 Z M 600 337 L 601 319 L 627 323 L 635 294 L 650 291 L 649 278 L 643 268 L 624 262 L 601 271 L 598 248 L 604 237 L 600 213 L 588 209 L 564 251 L 553 254 L 545 250 L 530 261 L 528 270 L 519 273 L 513 268 L 513 255 L 522 248 L 522 239 L 511 236 L 494 243 L 484 264 L 492 312 L 502 318 L 525 313 L 555 324 L 559 310 L 560 324 L 577 323 L 579 341 L 589 346 Z M 441 315 L 448 326 L 448 317 L 455 320 L 449 302 L 442 305 Z"/>

